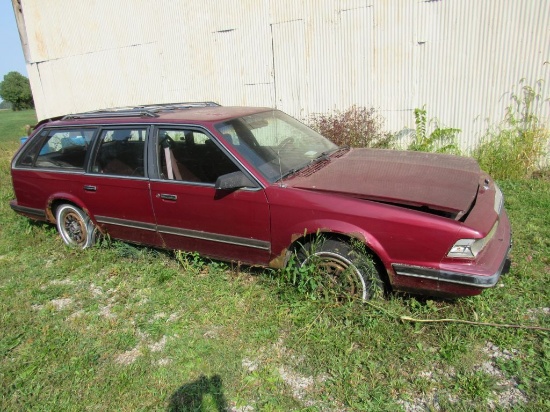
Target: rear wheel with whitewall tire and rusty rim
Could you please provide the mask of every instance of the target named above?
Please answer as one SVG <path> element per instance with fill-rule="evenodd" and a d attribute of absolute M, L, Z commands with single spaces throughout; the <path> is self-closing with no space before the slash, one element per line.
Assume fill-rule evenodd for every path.
<path fill-rule="evenodd" d="M 80 208 L 65 203 L 55 211 L 57 230 L 67 246 L 86 249 L 95 243 L 96 227 Z"/>

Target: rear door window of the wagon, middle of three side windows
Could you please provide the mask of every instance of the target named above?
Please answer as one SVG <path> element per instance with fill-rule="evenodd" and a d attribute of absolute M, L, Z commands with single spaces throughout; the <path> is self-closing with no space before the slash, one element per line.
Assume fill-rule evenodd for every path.
<path fill-rule="evenodd" d="M 146 129 L 103 129 L 92 172 L 145 176 Z"/>

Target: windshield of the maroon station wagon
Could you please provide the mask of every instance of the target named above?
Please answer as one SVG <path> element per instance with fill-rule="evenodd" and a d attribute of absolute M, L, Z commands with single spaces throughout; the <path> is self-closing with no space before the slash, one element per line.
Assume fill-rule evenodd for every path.
<path fill-rule="evenodd" d="M 223 138 L 270 182 L 338 149 L 319 133 L 278 110 L 216 125 Z"/>

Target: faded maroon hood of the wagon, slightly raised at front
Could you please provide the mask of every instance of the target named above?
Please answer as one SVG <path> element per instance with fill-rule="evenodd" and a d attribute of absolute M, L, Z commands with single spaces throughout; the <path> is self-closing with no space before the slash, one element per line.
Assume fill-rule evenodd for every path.
<path fill-rule="evenodd" d="M 479 166 L 468 157 L 351 149 L 304 169 L 285 184 L 462 215 L 476 197 L 479 179 Z"/>

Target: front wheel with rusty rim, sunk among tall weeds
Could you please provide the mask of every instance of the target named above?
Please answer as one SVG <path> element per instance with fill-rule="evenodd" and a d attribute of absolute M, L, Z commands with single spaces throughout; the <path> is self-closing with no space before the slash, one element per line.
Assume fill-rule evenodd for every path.
<path fill-rule="evenodd" d="M 309 273 L 317 276 L 318 292 L 325 297 L 366 301 L 384 291 L 374 256 L 362 244 L 317 238 L 301 245 L 296 255 L 300 268 L 311 265 Z"/>

